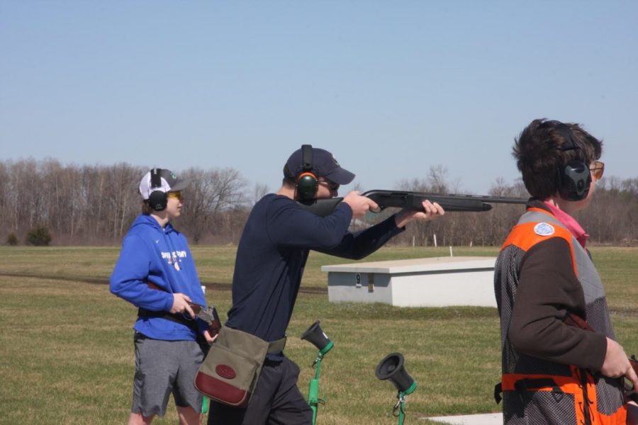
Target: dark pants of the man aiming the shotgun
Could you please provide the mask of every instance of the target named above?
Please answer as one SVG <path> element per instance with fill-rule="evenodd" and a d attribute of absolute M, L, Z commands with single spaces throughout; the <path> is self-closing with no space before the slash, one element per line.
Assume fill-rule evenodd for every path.
<path fill-rule="evenodd" d="M 257 390 L 248 407 L 237 409 L 213 402 L 208 409 L 208 425 L 310 425 L 313 411 L 297 387 L 298 366 L 266 360 Z"/>

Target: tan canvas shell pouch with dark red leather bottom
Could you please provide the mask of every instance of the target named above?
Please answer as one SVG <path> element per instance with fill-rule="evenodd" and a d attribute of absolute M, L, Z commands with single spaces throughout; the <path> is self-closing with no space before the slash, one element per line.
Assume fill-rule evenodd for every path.
<path fill-rule="evenodd" d="M 272 344 L 257 336 L 222 327 L 195 376 L 196 389 L 220 403 L 245 407 L 269 348 Z"/>

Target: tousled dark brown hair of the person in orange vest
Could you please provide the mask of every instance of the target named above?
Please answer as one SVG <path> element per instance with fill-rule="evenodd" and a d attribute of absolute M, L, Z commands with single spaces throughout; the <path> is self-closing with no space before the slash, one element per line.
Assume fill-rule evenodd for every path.
<path fill-rule="evenodd" d="M 572 141 L 575 149 L 571 147 Z M 534 198 L 544 200 L 558 191 L 561 166 L 572 160 L 591 164 L 600 158 L 602 152 L 603 141 L 590 135 L 580 125 L 539 118 L 527 125 L 515 139 L 513 157 L 527 191 Z"/>

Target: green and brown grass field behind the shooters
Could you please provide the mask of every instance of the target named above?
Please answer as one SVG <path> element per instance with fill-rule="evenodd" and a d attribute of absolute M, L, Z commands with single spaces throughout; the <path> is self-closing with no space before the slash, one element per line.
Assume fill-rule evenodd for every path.
<path fill-rule="evenodd" d="M 130 412 L 136 309 L 108 292 L 119 248 L 0 246 L 0 424 L 123 424 Z M 496 255 L 497 248 L 454 249 L 454 255 Z M 230 307 L 235 248 L 195 246 L 206 297 L 223 318 Z M 617 338 L 638 352 L 638 249 L 594 247 Z M 447 256 L 447 248 L 386 247 L 367 260 Z M 421 416 L 498 412 L 500 378 L 496 309 L 399 308 L 328 302 L 324 264 L 311 254 L 289 327 L 288 356 L 301 368 L 306 393 L 316 349 L 301 335 L 316 319 L 335 342 L 321 368 L 318 424 L 396 424 L 396 391 L 374 377 L 393 351 L 418 382 L 408 396 L 406 424 Z M 219 285 L 221 284 L 221 285 Z M 174 407 L 156 424 L 177 423 Z"/>

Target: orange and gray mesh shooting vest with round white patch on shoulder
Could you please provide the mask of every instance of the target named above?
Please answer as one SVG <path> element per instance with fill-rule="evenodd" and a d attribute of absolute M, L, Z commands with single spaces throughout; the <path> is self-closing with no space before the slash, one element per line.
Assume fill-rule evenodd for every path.
<path fill-rule="evenodd" d="M 559 237 L 569 244 L 571 265 L 583 286 L 586 319 L 615 339 L 603 285 L 587 251 L 550 212 L 528 208 L 501 247 L 494 273 L 503 349 L 503 424 L 625 424 L 625 397 L 617 379 L 517 353 L 508 329 L 520 264 L 532 246 Z M 521 371 L 523 373 L 521 373 Z"/>

